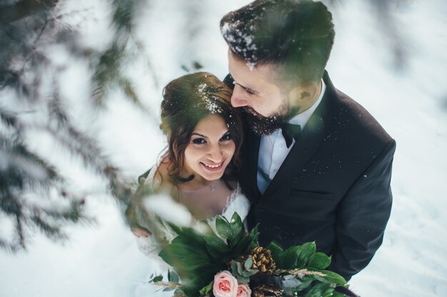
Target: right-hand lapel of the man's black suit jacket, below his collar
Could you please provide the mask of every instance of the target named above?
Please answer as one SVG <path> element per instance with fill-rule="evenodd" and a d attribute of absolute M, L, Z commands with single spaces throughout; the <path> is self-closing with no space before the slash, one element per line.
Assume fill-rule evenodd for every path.
<path fill-rule="evenodd" d="M 326 92 L 320 105 L 311 115 L 291 151 L 288 152 L 286 159 L 268 185 L 263 197 L 268 197 L 281 189 L 284 184 L 289 184 L 288 182 L 291 182 L 291 179 L 303 170 L 303 167 L 328 134 L 328 129 L 332 125 L 336 110 L 338 110 L 338 96 L 326 71 L 323 74 L 323 80 L 326 83 Z"/>

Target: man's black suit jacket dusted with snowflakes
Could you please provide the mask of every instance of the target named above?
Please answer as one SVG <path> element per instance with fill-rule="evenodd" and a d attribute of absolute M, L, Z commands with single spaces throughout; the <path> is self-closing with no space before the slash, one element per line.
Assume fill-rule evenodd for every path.
<path fill-rule="evenodd" d="M 260 223 L 261 245 L 316 241 L 332 255 L 329 269 L 349 279 L 382 243 L 396 142 L 334 88 L 327 72 L 323 80 L 320 105 L 263 195 L 256 181 L 261 138 L 246 129 L 239 182 L 252 203 L 248 226 Z"/>

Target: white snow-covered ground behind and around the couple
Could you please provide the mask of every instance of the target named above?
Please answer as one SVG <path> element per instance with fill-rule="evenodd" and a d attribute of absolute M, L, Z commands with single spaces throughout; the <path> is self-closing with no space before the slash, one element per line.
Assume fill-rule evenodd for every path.
<path fill-rule="evenodd" d="M 398 34 L 374 14 L 368 1 L 336 1 L 332 8 L 336 41 L 328 63 L 334 85 L 361 103 L 396 139 L 393 211 L 381 249 L 351 280 L 363 297 L 447 296 L 447 2 L 394 1 Z M 226 45 L 219 21 L 248 1 L 153 0 L 139 11 L 136 38 L 143 41 L 157 77 L 145 63 L 129 68 L 141 99 L 157 119 L 161 88 L 199 61 L 224 78 Z M 180 5 L 181 4 L 181 5 Z M 67 1 L 64 9 L 88 9 L 86 19 L 71 19 L 84 43 L 101 48 L 110 41 L 106 1 Z M 191 18 L 191 15 L 194 16 Z M 405 49 L 406 63 L 394 67 L 390 44 Z M 101 147 L 126 176 L 136 178 L 156 160 L 164 138 L 154 118 L 117 92 L 93 123 L 82 119 L 88 98 L 87 68 L 62 48 L 48 48 L 54 63 L 67 64 L 62 95 L 71 117 L 96 135 Z M 42 137 L 34 150 L 54 150 L 62 172 L 86 192 L 101 186 L 75 160 L 57 155 Z M 104 186 L 104 185 L 103 185 Z M 34 235 L 29 251 L 0 250 L 0 296 L 169 296 L 146 283 L 159 266 L 141 254 L 116 202 L 91 195 L 89 214 L 98 224 L 69 229 L 70 241 L 54 244 Z M 156 293 L 154 293 L 156 292 Z"/>

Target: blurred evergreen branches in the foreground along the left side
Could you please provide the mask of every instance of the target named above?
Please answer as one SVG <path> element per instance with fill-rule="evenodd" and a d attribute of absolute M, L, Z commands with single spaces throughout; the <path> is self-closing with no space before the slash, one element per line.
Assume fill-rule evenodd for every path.
<path fill-rule="evenodd" d="M 89 66 L 92 91 L 88 113 L 94 115 L 106 107 L 111 87 L 121 88 L 125 98 L 145 110 L 124 74 L 124 67 L 131 62 L 129 53 L 136 51 L 138 41 L 129 45 L 129 36 L 141 1 L 111 3 L 114 38 L 103 51 L 84 46 L 77 31 L 64 22 L 80 14 L 63 13 L 66 1 L 0 3 L 0 224 L 5 226 L 0 247 L 12 252 L 26 249 L 38 230 L 63 241 L 67 239 L 66 226 L 94 222 L 85 214 L 89 194 L 109 194 L 123 208 L 131 194 L 132 185 L 104 155 L 95 135 L 69 116 L 59 80 L 66 66 L 54 63 L 48 48 L 61 46 L 78 63 Z M 141 51 L 141 44 L 138 46 Z M 102 193 L 73 187 L 66 174 L 61 174 L 66 168 L 56 162 L 55 152 L 31 150 L 36 133 L 49 137 L 47 141 L 67 160 L 81 160 L 86 172 L 93 172 L 108 186 Z"/>

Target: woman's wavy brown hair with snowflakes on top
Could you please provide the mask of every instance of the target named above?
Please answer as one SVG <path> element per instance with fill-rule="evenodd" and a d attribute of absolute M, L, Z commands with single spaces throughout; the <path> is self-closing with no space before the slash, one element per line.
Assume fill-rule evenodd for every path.
<path fill-rule="evenodd" d="M 234 179 L 239 165 L 238 153 L 242 143 L 241 115 L 231 106 L 231 90 L 215 75 L 206 72 L 183 75 L 172 80 L 163 90 L 160 128 L 168 137 L 168 151 L 164 161 L 169 162 L 171 182 L 187 182 L 194 176 L 181 178 L 186 147 L 194 128 L 208 115 L 224 119 L 236 150 L 224 173 L 224 180 Z"/>

